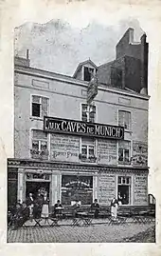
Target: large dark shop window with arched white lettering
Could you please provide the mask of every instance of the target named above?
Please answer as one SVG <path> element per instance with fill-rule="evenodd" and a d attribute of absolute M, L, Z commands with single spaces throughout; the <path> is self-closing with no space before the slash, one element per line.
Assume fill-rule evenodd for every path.
<path fill-rule="evenodd" d="M 72 205 L 78 200 L 81 205 L 93 202 L 93 176 L 63 175 L 62 203 Z"/>

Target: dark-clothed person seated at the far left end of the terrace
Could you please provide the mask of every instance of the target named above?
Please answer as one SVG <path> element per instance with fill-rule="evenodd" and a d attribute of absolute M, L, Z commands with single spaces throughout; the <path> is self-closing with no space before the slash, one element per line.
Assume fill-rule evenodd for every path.
<path fill-rule="evenodd" d="M 23 202 L 22 207 L 18 208 L 16 215 L 14 216 L 14 228 L 23 226 L 27 222 L 29 217 L 29 208 L 26 205 L 26 202 Z"/>

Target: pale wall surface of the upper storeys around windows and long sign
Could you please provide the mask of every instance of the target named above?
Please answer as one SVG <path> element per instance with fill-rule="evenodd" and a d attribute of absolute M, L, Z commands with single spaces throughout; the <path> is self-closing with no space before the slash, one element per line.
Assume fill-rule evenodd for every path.
<path fill-rule="evenodd" d="M 15 73 L 15 157 L 29 158 L 29 149 L 31 148 L 30 130 L 31 128 L 44 128 L 43 119 L 31 117 L 31 94 L 49 98 L 49 116 L 80 120 L 80 105 L 81 103 L 86 103 L 86 89 L 86 83 L 77 85 L 36 77 L 35 75 Z M 148 99 L 136 97 L 134 94 L 130 96 L 122 93 L 123 91 L 119 89 L 98 89 L 98 95 L 95 99 L 97 107 L 96 122 L 116 126 L 118 125 L 118 109 L 130 111 L 132 115 L 132 130 L 125 132 L 125 140 L 147 143 Z M 126 92 L 124 91 L 124 93 Z M 55 150 L 62 151 L 62 153 L 65 151 L 68 158 L 62 154 L 63 160 L 79 162 L 79 139 L 66 136 L 66 138 L 62 137 L 58 140 L 58 137 L 57 135 L 57 138 L 53 139 L 54 142 L 59 141 L 59 143 L 57 143 L 57 147 L 52 148 L 52 157 Z M 70 145 L 70 147 L 74 143 L 76 144 L 75 150 L 70 152 L 72 154 L 70 157 L 69 153 L 67 153 L 67 146 L 60 146 L 64 144 L 61 141 L 65 142 L 65 145 Z M 107 156 L 111 150 L 113 150 L 113 154 L 111 154 L 111 157 L 110 155 Z M 115 152 L 116 142 L 112 144 L 110 141 L 99 140 L 98 163 L 116 165 Z M 62 158 L 61 155 L 57 155 L 52 160 L 54 159 L 61 160 Z"/>

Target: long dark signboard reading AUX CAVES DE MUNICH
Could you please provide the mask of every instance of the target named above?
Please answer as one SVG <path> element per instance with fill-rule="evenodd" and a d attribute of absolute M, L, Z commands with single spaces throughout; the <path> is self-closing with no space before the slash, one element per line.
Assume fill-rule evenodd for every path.
<path fill-rule="evenodd" d="M 80 136 L 99 137 L 121 140 L 124 138 L 124 128 L 98 123 L 86 123 L 55 117 L 44 117 L 45 132 L 66 133 Z"/>

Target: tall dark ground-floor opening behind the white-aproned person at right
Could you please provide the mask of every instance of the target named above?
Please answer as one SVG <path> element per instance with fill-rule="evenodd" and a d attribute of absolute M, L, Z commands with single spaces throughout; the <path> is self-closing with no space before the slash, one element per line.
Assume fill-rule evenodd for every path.
<path fill-rule="evenodd" d="M 122 205 L 130 205 L 131 204 L 131 177 L 126 176 L 118 176 L 117 177 L 117 191 L 119 202 Z"/>

